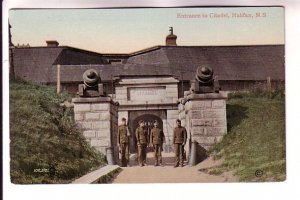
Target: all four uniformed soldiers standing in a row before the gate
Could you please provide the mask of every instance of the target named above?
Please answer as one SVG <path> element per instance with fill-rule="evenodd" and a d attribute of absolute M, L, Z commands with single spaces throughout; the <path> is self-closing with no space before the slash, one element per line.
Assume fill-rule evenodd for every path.
<path fill-rule="evenodd" d="M 150 131 L 150 137 L 148 137 L 147 130 L 145 129 L 145 122 L 140 120 L 139 126 L 135 130 L 135 137 L 138 147 L 138 163 L 143 167 L 146 165 L 147 147 L 153 147 L 154 150 L 154 166 L 162 165 L 162 149 L 163 143 L 165 143 L 164 132 L 159 128 L 158 121 L 153 122 L 153 128 Z M 129 137 L 130 132 L 126 125 L 126 119 L 122 118 L 121 125 L 118 129 L 118 146 L 121 153 L 121 166 L 126 167 L 129 162 Z M 173 133 L 173 145 L 175 151 L 175 164 L 174 167 L 183 167 L 184 161 L 184 146 L 187 141 L 187 132 L 184 127 L 181 126 L 181 121 L 176 120 L 176 127 Z"/>

